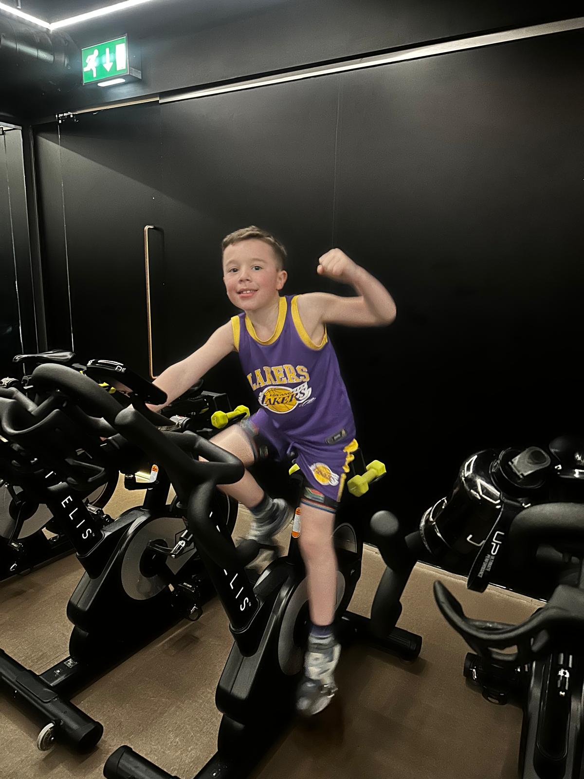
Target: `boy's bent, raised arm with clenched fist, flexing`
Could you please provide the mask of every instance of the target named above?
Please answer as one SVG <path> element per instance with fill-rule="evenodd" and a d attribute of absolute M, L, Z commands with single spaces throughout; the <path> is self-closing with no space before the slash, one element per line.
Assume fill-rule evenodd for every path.
<path fill-rule="evenodd" d="M 354 263 L 340 249 L 326 252 L 318 260 L 318 274 L 350 284 L 357 298 L 342 298 L 326 292 L 300 295 L 298 309 L 308 332 L 318 325 L 336 324 L 371 327 L 390 325 L 396 319 L 396 304 L 383 284 Z"/>

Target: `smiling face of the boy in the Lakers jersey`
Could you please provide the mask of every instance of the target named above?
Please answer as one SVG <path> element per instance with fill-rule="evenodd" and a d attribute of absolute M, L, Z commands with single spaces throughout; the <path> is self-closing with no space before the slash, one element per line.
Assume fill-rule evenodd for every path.
<path fill-rule="evenodd" d="M 223 252 L 223 281 L 230 301 L 244 311 L 257 311 L 273 302 L 287 279 L 278 270 L 272 247 L 259 238 L 231 244 Z"/>

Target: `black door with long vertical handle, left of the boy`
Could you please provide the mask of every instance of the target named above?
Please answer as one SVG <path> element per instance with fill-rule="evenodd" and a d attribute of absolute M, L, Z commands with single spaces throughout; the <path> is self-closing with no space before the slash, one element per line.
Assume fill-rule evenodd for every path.
<path fill-rule="evenodd" d="M 160 224 L 160 107 L 65 118 L 37 132 L 36 148 L 49 344 L 147 374 L 144 228 Z M 152 232 L 156 289 L 162 240 Z"/>

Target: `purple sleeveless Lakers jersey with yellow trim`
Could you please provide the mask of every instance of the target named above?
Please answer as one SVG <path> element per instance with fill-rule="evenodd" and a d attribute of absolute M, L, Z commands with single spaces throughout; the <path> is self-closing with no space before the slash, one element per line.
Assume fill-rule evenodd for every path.
<path fill-rule="evenodd" d="M 241 312 L 231 319 L 235 348 L 259 406 L 283 438 L 332 444 L 355 435 L 353 411 L 339 362 L 325 330 L 314 344 L 298 314 L 297 295 L 280 298 L 276 330 L 259 340 Z"/>

